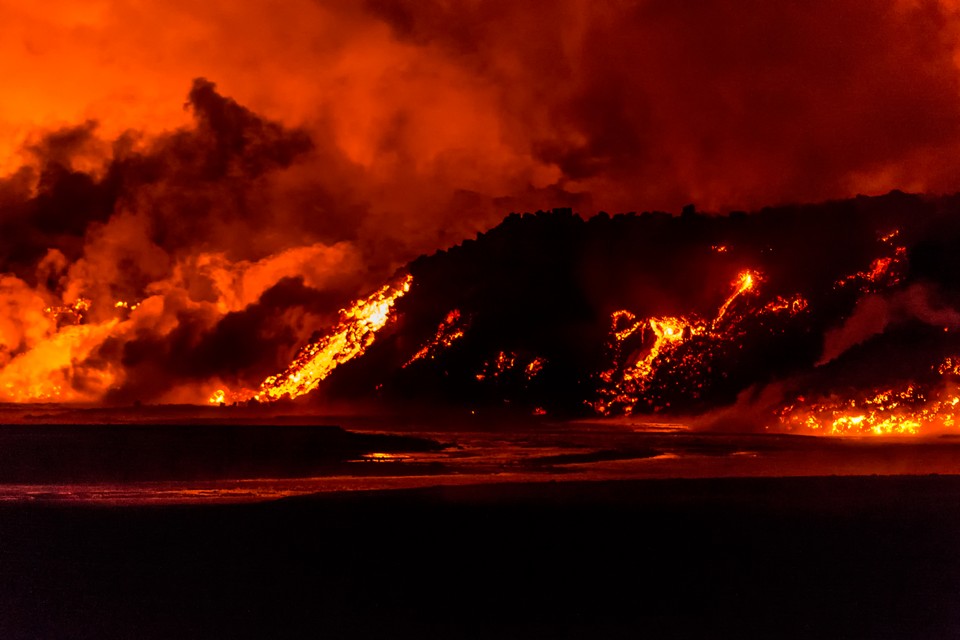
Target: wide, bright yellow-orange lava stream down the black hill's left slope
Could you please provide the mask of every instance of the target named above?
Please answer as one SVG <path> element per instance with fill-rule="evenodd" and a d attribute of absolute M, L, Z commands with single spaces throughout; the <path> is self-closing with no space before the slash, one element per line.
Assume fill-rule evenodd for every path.
<path fill-rule="evenodd" d="M 268 377 L 256 392 L 231 393 L 218 389 L 209 402 L 221 404 L 228 400 L 267 402 L 283 397 L 296 398 L 310 393 L 338 366 L 352 360 L 373 344 L 377 331 L 390 318 L 390 310 L 413 283 L 413 276 L 405 276 L 399 283 L 387 284 L 370 296 L 358 300 L 340 311 L 340 322 L 323 338 L 300 350 L 297 357 L 282 373 Z"/>

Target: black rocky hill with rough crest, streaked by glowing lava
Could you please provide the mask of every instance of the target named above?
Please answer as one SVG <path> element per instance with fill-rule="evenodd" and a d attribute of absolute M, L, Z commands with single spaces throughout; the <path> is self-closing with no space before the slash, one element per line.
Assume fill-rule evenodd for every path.
<path fill-rule="evenodd" d="M 612 312 L 709 320 L 745 269 L 759 272 L 761 282 L 743 305 L 802 296 L 802 313 L 764 315 L 744 306 L 728 340 L 694 336 L 673 361 L 657 363 L 637 410 L 702 411 L 751 385 L 814 371 L 825 334 L 842 327 L 864 296 L 892 299 L 921 287 L 939 305 L 960 300 L 957 255 L 957 196 L 895 191 L 726 216 L 511 214 L 475 240 L 412 262 L 414 283 L 396 305 L 397 322 L 366 355 L 338 369 L 326 393 L 586 414 L 599 374 L 611 367 Z M 878 261 L 886 271 L 870 281 L 862 274 Z M 409 363 L 452 310 L 463 337 Z M 929 325 L 911 313 L 891 326 Z M 649 336 L 637 339 L 632 355 L 621 356 L 642 357 L 650 343 Z M 699 359 L 696 366 L 688 355 Z M 526 375 L 534 360 L 542 368 Z"/>

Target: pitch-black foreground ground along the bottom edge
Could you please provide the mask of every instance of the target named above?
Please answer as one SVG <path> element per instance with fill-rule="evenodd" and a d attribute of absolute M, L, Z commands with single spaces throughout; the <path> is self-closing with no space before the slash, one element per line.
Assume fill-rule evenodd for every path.
<path fill-rule="evenodd" d="M 0 506 L 0 638 L 946 638 L 960 477 Z"/>

